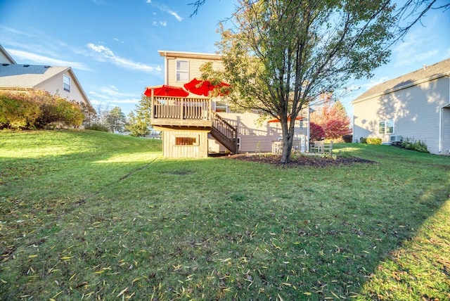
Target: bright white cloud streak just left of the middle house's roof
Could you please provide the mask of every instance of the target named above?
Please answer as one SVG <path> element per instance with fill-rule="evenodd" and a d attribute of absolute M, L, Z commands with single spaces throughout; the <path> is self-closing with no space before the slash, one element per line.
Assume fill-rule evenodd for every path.
<path fill-rule="evenodd" d="M 142 63 L 136 63 L 132 60 L 129 60 L 127 58 L 121 58 L 120 56 L 116 56 L 114 52 L 109 49 L 106 46 L 103 45 L 95 45 L 92 43 L 87 44 L 87 47 L 91 49 L 91 51 L 94 51 L 97 56 L 95 56 L 96 59 L 102 61 L 102 62 L 110 62 L 114 65 L 120 66 L 122 68 L 131 69 L 131 70 L 138 70 L 142 72 L 161 72 L 162 68 L 160 66 L 152 67 L 149 65 L 145 65 Z"/>

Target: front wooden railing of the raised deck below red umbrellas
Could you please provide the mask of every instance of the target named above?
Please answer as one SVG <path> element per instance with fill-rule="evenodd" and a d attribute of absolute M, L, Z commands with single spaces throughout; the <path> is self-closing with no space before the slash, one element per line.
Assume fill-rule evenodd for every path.
<path fill-rule="evenodd" d="M 152 117 L 184 120 L 210 120 L 211 103 L 205 98 L 160 97 L 152 99 Z"/>

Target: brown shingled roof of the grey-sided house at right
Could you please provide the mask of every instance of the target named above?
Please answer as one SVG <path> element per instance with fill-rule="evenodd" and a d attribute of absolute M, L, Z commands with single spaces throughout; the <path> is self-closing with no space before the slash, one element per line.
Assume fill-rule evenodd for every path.
<path fill-rule="evenodd" d="M 400 77 L 390 79 L 382 84 L 378 84 L 355 98 L 352 103 L 359 103 L 360 101 L 365 101 L 366 99 L 373 98 L 375 96 L 389 94 L 394 91 L 416 86 L 417 84 L 429 82 L 432 79 L 437 79 L 444 76 L 450 76 L 450 58 L 430 66 L 424 66 L 423 68 L 407 73 L 406 75 L 401 75 Z"/>

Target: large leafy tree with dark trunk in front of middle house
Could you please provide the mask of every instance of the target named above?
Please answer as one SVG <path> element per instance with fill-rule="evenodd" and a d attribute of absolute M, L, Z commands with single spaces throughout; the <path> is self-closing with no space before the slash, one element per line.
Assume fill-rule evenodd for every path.
<path fill-rule="evenodd" d="M 242 0 L 235 26 L 221 27 L 229 98 L 280 120 L 281 162 L 290 161 L 295 118 L 308 103 L 387 62 L 392 10 L 387 0 Z"/>

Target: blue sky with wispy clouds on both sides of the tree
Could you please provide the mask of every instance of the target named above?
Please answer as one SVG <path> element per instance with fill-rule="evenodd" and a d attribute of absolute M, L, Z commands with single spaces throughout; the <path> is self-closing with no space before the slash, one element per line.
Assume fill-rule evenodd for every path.
<path fill-rule="evenodd" d="M 444 3 L 445 0 L 438 0 Z M 158 50 L 214 53 L 219 20 L 235 1 L 207 0 L 193 15 L 193 0 L 0 0 L 0 44 L 17 63 L 70 66 L 95 108 L 127 114 L 147 86 L 164 83 Z M 371 79 L 349 83 L 350 102 L 366 89 L 450 58 L 450 11 L 430 11 L 390 63 Z"/>

